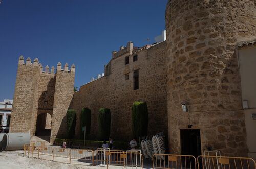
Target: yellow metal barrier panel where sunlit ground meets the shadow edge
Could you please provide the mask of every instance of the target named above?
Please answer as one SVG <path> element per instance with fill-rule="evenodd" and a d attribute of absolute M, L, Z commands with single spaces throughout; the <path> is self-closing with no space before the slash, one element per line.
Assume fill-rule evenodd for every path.
<path fill-rule="evenodd" d="M 70 151 L 70 163 L 71 159 L 79 159 L 84 162 L 92 163 L 94 166 L 95 153 L 93 150 L 80 150 L 80 149 L 71 149 Z"/>

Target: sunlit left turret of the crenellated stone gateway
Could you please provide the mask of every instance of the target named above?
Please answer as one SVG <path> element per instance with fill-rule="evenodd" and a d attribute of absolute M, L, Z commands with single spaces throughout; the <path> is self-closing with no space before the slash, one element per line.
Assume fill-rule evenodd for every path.
<path fill-rule="evenodd" d="M 40 69 L 38 61 L 35 59 L 31 65 L 31 59 L 26 60 L 21 56 L 18 62 L 15 92 L 13 97 L 12 117 L 10 122 L 10 132 L 31 132 L 35 130 L 34 122 L 35 108 L 34 102 L 37 93 L 37 81 Z"/>

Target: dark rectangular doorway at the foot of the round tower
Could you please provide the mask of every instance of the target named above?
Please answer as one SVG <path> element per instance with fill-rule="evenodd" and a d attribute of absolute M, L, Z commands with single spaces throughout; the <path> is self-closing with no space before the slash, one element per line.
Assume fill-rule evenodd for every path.
<path fill-rule="evenodd" d="M 193 155 L 196 158 L 201 155 L 200 130 L 180 130 L 181 154 Z"/>

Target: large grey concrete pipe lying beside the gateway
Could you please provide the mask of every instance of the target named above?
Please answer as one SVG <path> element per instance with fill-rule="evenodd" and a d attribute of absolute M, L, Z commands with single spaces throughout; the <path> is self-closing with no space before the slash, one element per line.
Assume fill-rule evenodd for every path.
<path fill-rule="evenodd" d="M 24 144 L 30 143 L 29 133 L 6 133 L 2 139 L 2 149 L 8 150 L 22 150 Z"/>

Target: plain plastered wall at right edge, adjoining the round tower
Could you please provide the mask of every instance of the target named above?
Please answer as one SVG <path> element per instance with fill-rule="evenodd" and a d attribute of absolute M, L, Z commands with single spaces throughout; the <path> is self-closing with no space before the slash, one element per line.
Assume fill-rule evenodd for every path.
<path fill-rule="evenodd" d="M 247 133 L 248 156 L 256 159 L 256 45 L 242 47 L 239 52 L 239 66 L 242 87 L 242 101 L 248 101 L 245 109 L 245 126 Z"/>

